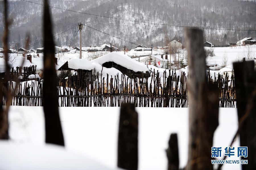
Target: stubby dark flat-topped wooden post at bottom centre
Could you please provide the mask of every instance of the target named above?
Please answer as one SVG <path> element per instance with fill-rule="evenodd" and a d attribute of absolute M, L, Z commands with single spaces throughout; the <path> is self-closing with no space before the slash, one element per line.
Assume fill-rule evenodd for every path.
<path fill-rule="evenodd" d="M 138 169 L 138 113 L 134 104 L 122 104 L 118 133 L 117 166 Z"/>

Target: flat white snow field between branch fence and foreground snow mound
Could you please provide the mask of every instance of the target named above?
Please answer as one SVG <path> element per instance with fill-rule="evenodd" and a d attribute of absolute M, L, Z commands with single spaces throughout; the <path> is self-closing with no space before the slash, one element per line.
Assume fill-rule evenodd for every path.
<path fill-rule="evenodd" d="M 65 138 L 64 151 L 73 153 L 70 154 L 70 157 L 74 153 L 84 155 L 83 158 L 89 158 L 102 166 L 116 169 L 119 110 L 118 107 L 60 107 L 60 118 Z M 139 169 L 167 168 L 165 149 L 168 146 L 171 133 L 178 134 L 180 167 L 184 167 L 188 155 L 188 109 L 136 108 L 136 110 L 139 113 Z M 237 111 L 233 108 L 220 108 L 219 112 L 219 126 L 214 134 L 213 146 L 223 148 L 229 146 L 238 128 Z M 24 155 L 34 154 L 34 159 L 42 158 L 42 154 L 51 153 L 47 152 L 49 148 L 46 148 L 45 152 L 42 151 L 45 147 L 42 107 L 11 106 L 9 122 L 9 144 L 1 143 L 0 153 L 5 151 L 6 154 L 6 147 L 11 147 L 9 145 L 15 144 L 14 147 L 18 147 L 16 147 L 16 151 L 11 152 L 14 156 L 0 157 L 1 165 L 10 165 L 13 169 L 20 169 L 18 167 L 20 157 L 24 158 L 22 159 L 23 163 L 32 163 L 30 159 L 26 159 L 29 157 L 20 155 L 19 152 L 24 152 Z M 35 154 L 33 151 L 24 150 L 28 145 L 33 149 L 38 147 L 41 149 Z M 239 140 L 237 139 L 233 146 L 238 145 Z M 61 151 L 63 155 L 65 155 L 64 151 Z M 15 156 L 16 154 L 20 157 Z M 10 159 L 11 162 L 8 162 Z M 232 157 L 232 159 L 238 158 Z M 65 160 L 67 161 L 67 159 L 63 159 L 63 161 Z M 80 159 L 76 162 L 79 161 Z M 85 166 L 91 165 L 90 161 L 84 161 L 82 163 L 84 167 L 80 169 L 87 169 Z M 59 166 L 62 165 L 64 167 L 65 163 Z M 224 165 L 223 169 L 241 169 L 241 166 L 228 164 Z"/>

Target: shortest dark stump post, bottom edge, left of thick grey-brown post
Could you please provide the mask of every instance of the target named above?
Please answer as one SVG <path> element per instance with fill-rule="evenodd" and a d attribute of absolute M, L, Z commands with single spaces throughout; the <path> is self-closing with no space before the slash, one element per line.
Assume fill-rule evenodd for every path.
<path fill-rule="evenodd" d="M 179 148 L 177 133 L 172 133 L 168 143 L 169 147 L 166 150 L 168 158 L 168 170 L 179 169 Z"/>

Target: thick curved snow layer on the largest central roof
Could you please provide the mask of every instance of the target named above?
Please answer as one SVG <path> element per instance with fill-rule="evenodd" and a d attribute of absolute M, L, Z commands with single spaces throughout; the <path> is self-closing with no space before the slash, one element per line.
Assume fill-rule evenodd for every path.
<path fill-rule="evenodd" d="M 91 60 L 92 63 L 98 63 L 100 65 L 106 62 L 115 62 L 120 66 L 123 66 L 127 69 L 133 70 L 134 72 L 146 72 L 148 68 L 145 64 L 140 63 L 136 60 L 133 60 L 129 56 L 117 52 L 108 53 L 104 56 Z"/>

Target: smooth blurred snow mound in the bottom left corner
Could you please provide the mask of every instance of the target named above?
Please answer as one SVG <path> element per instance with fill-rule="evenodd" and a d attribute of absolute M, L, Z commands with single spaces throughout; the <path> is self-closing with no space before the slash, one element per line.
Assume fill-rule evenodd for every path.
<path fill-rule="evenodd" d="M 33 146 L 7 141 L 0 144 L 1 169 L 110 169 L 88 156 L 53 144 Z"/>

